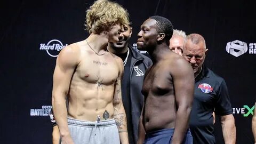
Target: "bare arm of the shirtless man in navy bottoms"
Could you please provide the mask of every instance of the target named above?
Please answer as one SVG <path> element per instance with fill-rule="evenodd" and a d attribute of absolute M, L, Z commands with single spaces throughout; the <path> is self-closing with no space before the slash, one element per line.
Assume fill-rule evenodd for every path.
<path fill-rule="evenodd" d="M 194 73 L 187 61 L 177 60 L 171 71 L 175 90 L 177 114 L 172 143 L 181 143 L 188 130 L 189 116 L 194 99 Z"/>

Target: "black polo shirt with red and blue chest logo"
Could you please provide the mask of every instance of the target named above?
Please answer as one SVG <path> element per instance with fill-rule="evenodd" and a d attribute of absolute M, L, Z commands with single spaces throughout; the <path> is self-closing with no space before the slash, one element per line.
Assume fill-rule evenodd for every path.
<path fill-rule="evenodd" d="M 190 130 L 193 143 L 215 143 L 213 116 L 232 114 L 228 89 L 225 80 L 203 66 L 195 78 L 194 102 L 190 114 Z"/>

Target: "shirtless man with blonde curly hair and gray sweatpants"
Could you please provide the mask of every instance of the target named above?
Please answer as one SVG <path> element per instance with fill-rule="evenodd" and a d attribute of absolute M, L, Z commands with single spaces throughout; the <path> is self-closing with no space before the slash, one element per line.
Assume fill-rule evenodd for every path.
<path fill-rule="evenodd" d="M 60 52 L 52 106 L 61 143 L 129 143 L 121 96 L 123 61 L 107 51 L 108 42 L 118 42 L 122 25 L 129 25 L 129 14 L 121 5 L 95 1 L 86 11 L 90 36 Z"/>

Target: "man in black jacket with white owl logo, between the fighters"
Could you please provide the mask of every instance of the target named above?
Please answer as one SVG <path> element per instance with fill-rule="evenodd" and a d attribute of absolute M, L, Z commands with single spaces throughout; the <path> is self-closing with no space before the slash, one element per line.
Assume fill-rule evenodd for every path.
<path fill-rule="evenodd" d="M 141 94 L 146 69 L 152 61 L 143 54 L 135 51 L 128 41 L 132 35 L 132 27 L 124 26 L 118 43 L 108 43 L 108 51 L 122 58 L 124 76 L 122 81 L 122 100 L 127 119 L 129 143 L 136 143 L 138 139 L 138 122 L 143 106 Z"/>

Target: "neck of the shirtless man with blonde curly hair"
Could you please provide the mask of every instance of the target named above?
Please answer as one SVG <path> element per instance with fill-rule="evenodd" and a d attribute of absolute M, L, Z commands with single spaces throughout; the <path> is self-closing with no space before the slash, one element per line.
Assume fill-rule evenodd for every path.
<path fill-rule="evenodd" d="M 106 34 L 91 34 L 86 38 L 90 47 L 97 53 L 107 50 L 108 37 Z"/>

